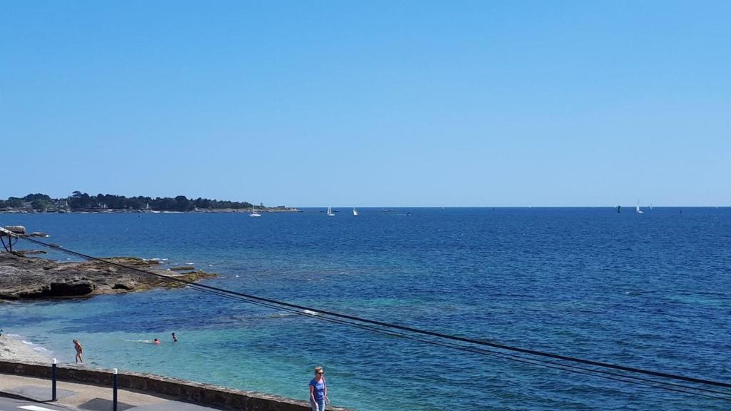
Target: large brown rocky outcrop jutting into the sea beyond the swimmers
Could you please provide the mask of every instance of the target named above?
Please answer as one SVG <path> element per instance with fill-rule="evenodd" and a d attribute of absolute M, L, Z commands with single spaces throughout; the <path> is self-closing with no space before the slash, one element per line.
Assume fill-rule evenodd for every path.
<path fill-rule="evenodd" d="M 216 276 L 195 270 L 184 274 L 161 270 L 157 261 L 135 257 L 113 257 L 104 260 L 186 281 Z M 80 298 L 99 294 L 129 293 L 155 287 L 181 287 L 181 285 L 99 262 L 56 263 L 37 257 L 0 252 L 0 299 L 4 300 Z"/>

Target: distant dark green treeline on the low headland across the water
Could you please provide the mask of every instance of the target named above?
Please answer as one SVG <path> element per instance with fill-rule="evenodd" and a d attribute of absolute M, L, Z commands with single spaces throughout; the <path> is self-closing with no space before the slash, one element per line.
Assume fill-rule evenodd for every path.
<path fill-rule="evenodd" d="M 208 198 L 188 199 L 184 195 L 178 197 L 124 197 L 124 195 L 72 192 L 66 198 L 51 198 L 45 194 L 29 194 L 26 197 L 10 197 L 0 200 L 0 208 L 49 208 L 75 210 L 160 210 L 191 211 L 194 208 L 251 208 L 251 203 L 240 201 L 208 200 Z"/>

